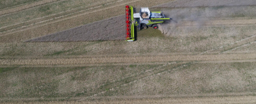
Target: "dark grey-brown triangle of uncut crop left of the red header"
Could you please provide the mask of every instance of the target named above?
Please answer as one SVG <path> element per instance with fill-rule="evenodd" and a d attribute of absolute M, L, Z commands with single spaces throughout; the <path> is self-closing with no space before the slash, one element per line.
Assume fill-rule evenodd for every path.
<path fill-rule="evenodd" d="M 125 39 L 125 15 L 93 22 L 26 42 L 106 41 Z"/>

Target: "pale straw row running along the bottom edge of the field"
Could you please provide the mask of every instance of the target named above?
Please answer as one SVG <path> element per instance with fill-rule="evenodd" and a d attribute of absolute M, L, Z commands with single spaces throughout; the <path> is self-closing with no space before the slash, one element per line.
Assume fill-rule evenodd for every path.
<path fill-rule="evenodd" d="M 256 96 L 231 96 L 231 97 L 203 97 L 203 98 L 164 98 L 164 99 L 122 99 L 122 100 L 85 100 L 85 101 L 33 101 L 33 102 L 6 102 L 7 104 L 219 104 L 219 103 L 256 103 Z"/>

